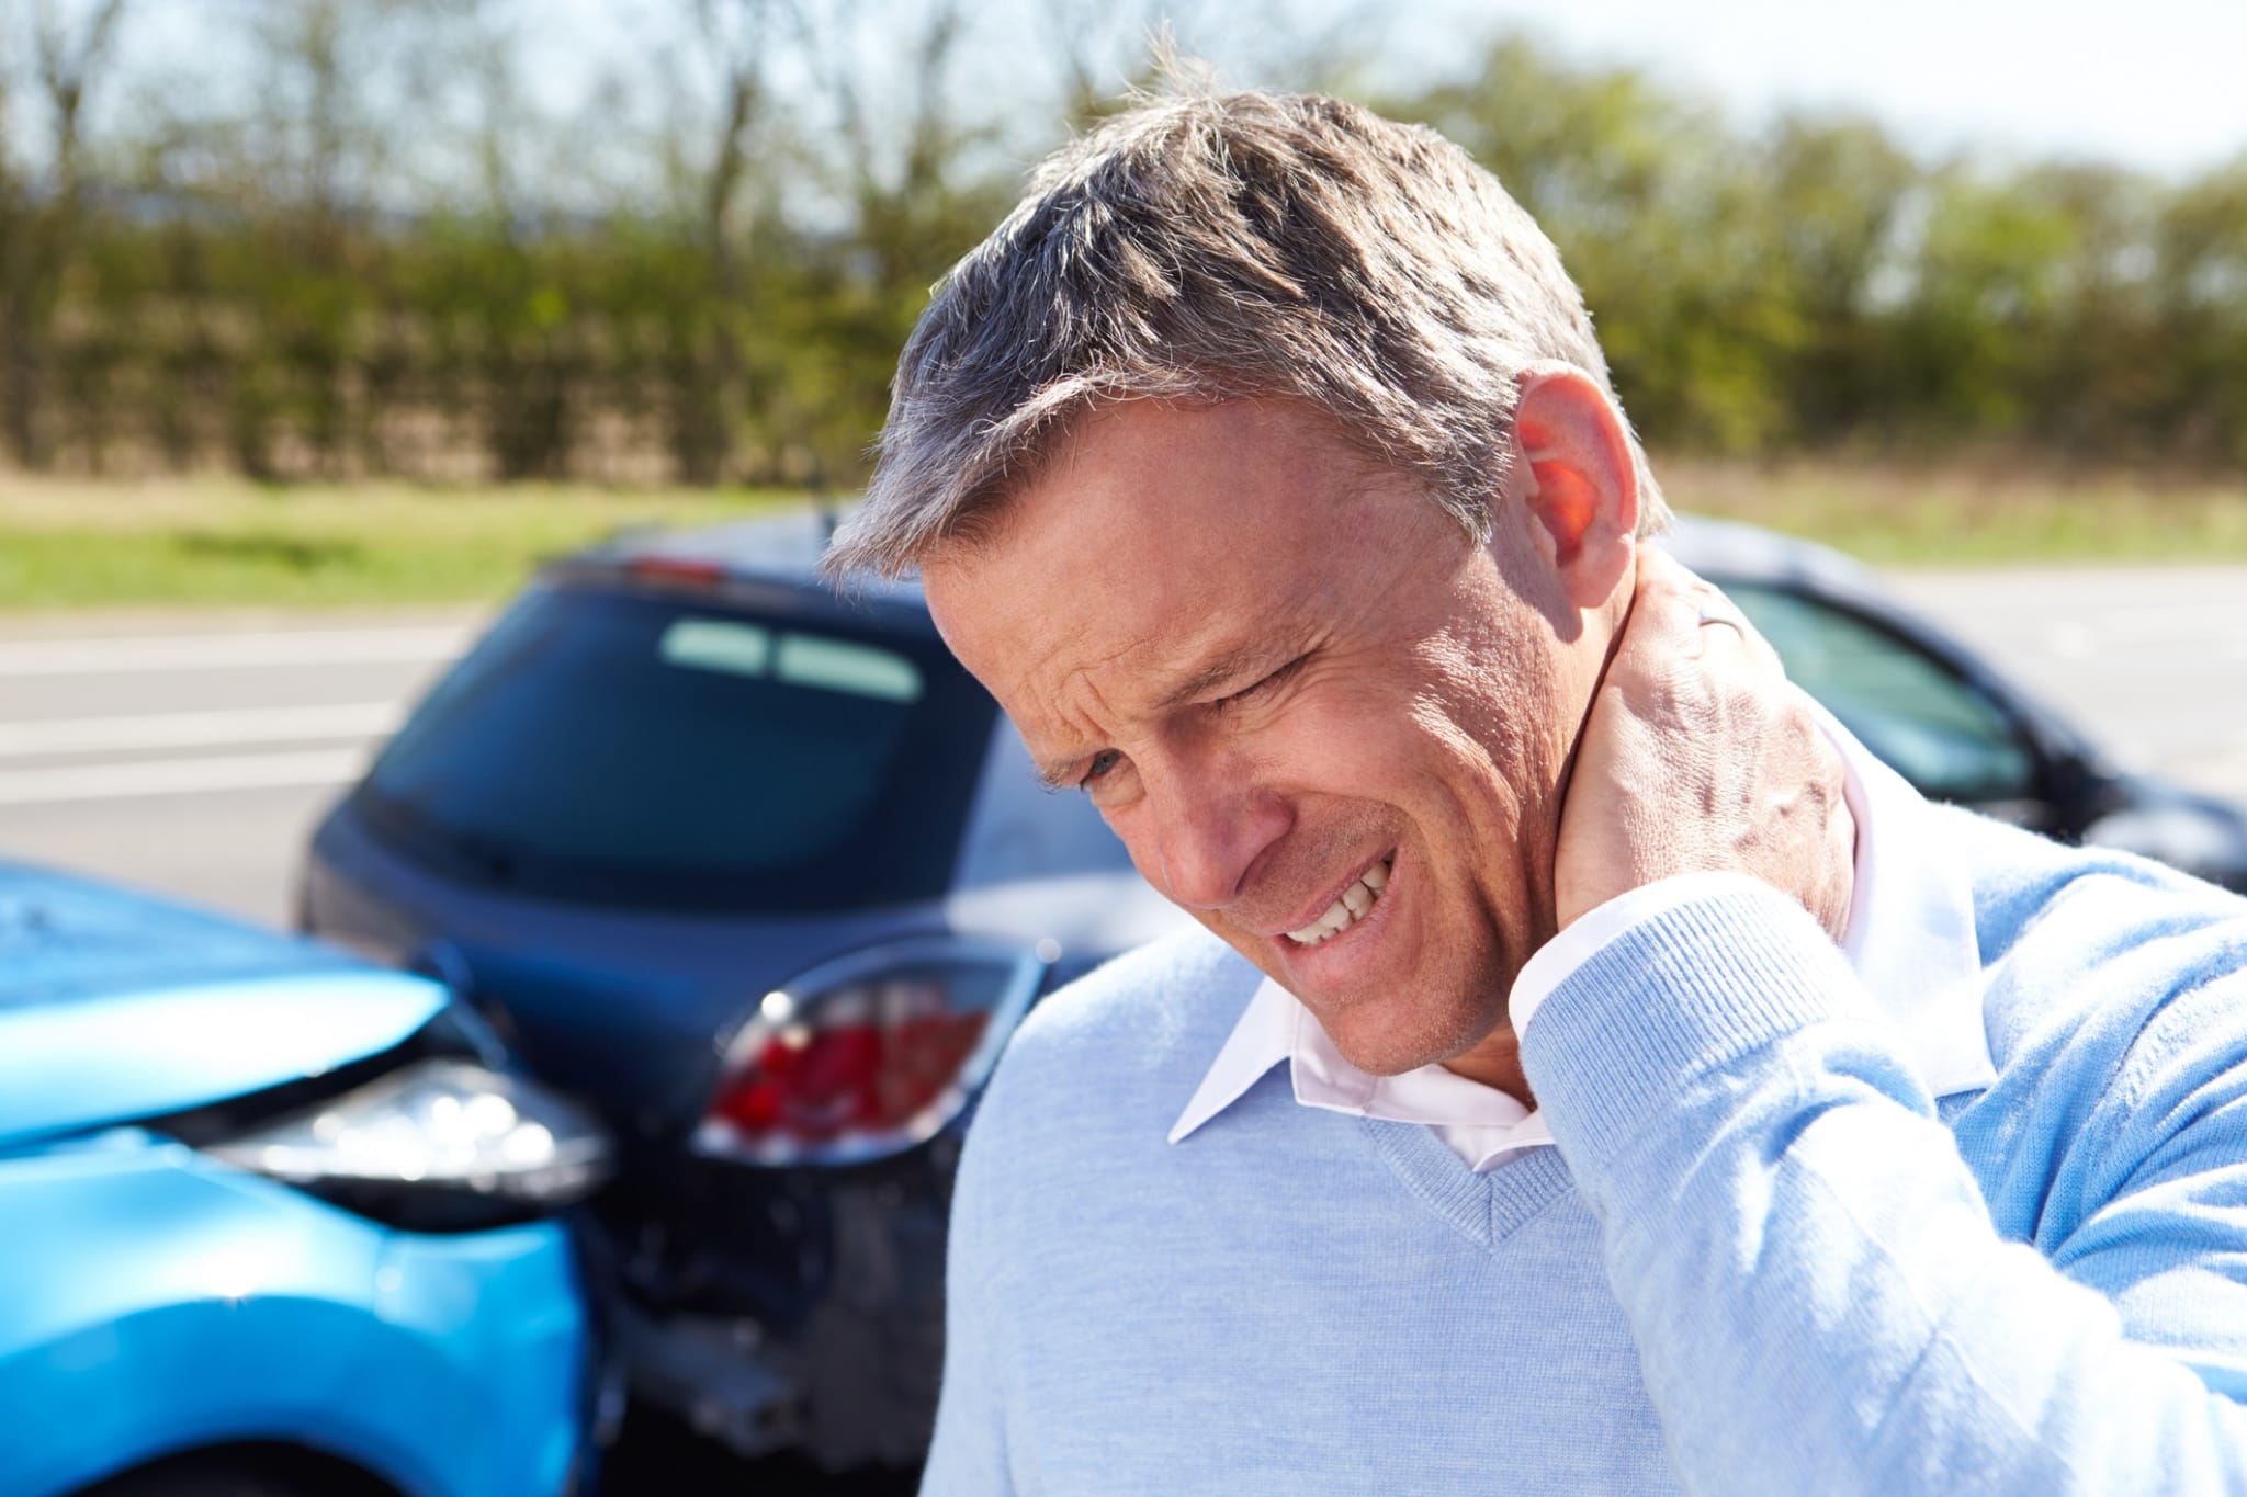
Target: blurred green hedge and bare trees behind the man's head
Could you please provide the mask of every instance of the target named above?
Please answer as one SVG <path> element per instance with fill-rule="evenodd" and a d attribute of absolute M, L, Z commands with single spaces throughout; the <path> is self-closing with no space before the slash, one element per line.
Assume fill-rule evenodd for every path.
<path fill-rule="evenodd" d="M 962 0 L 609 0 L 670 40 L 582 119 L 524 103 L 537 7 L 234 0 L 265 88 L 94 108 L 162 2 L 0 27 L 18 467 L 852 485 L 930 283 L 1049 144 L 993 103 L 1013 63 Z M 1344 22 L 1265 72 L 1341 79 Z M 1112 108 L 1088 27 L 1052 27 L 1047 119 Z M 1519 38 L 1371 101 L 1553 233 L 1658 447 L 2247 465 L 2247 155 L 2189 182 L 1919 162 Z"/>

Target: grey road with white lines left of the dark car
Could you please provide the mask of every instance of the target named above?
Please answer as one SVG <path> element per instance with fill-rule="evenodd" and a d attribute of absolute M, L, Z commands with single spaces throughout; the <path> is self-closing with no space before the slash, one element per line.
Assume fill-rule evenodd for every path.
<path fill-rule="evenodd" d="M 474 624 L 0 622 L 0 855 L 285 922 L 312 826 Z"/>

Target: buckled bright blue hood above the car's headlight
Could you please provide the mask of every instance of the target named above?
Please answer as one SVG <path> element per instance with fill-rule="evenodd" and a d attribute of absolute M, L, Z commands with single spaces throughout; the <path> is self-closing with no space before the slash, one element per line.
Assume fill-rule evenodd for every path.
<path fill-rule="evenodd" d="M 0 1142 L 321 1075 L 445 1003 L 310 940 L 0 864 Z"/>

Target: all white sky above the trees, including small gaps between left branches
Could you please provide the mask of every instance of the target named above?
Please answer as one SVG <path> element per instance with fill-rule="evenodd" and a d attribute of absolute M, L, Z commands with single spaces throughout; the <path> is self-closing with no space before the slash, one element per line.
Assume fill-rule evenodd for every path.
<path fill-rule="evenodd" d="M 90 0 L 58 2 L 83 13 Z M 1020 45 L 1049 36 L 1049 2 L 968 0 L 982 36 Z M 1234 2 L 1204 0 L 1204 9 Z M 1375 76 L 1404 85 L 1443 76 L 1481 56 L 1488 38 L 1519 29 L 1568 61 L 1645 67 L 1748 126 L 1784 108 L 1854 110 L 1921 155 L 2090 157 L 2171 177 L 2247 155 L 2247 0 L 1261 2 L 1301 25 L 1380 7 L 1389 20 Z M 22 4 L 0 0 L 0 18 Z M 204 76 L 225 76 L 202 45 L 225 13 L 209 4 L 144 0 L 135 34 L 144 61 L 193 58 Z M 562 101 L 582 97 L 616 56 L 645 49 L 665 22 L 683 34 L 690 11 L 685 0 L 519 0 L 517 13 L 535 52 L 535 92 Z M 1222 76 L 1258 81 L 1238 67 Z"/>

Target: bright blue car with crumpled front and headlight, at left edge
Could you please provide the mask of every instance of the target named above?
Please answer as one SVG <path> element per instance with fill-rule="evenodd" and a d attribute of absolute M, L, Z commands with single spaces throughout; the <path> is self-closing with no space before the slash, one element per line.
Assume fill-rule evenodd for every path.
<path fill-rule="evenodd" d="M 607 1133 L 427 979 L 0 862 L 0 1493 L 582 1493 Z"/>

